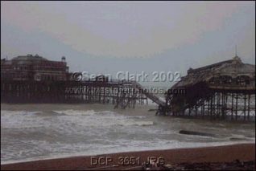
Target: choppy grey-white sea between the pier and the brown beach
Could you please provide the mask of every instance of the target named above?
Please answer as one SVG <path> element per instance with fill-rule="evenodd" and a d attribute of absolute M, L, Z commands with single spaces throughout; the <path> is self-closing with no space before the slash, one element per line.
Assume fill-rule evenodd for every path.
<path fill-rule="evenodd" d="M 153 105 L 2 104 L 1 163 L 255 142 L 254 124 L 155 116 Z M 181 135 L 181 129 L 216 136 Z"/>

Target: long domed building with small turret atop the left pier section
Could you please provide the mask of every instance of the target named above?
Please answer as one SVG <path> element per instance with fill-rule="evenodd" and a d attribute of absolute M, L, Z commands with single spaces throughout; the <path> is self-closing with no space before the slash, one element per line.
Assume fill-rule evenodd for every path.
<path fill-rule="evenodd" d="M 61 81 L 67 79 L 65 58 L 47 60 L 39 55 L 19 55 L 13 59 L 1 59 L 2 80 Z"/>

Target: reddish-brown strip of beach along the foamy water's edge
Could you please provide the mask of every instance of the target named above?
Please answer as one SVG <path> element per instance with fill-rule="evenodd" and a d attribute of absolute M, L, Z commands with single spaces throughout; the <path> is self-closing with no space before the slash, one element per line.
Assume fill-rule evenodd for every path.
<path fill-rule="evenodd" d="M 101 157 L 101 158 L 100 158 Z M 126 158 L 125 158 L 126 157 Z M 142 152 L 112 153 L 94 157 L 68 157 L 42 161 L 28 161 L 1 165 L 2 170 L 85 170 L 85 169 L 136 169 L 148 157 L 164 164 L 255 161 L 255 144 L 225 145 L 192 149 L 166 149 Z M 97 164 L 96 164 L 97 161 Z M 99 164 L 99 161 L 101 164 Z M 137 169 L 140 169 L 137 167 Z"/>

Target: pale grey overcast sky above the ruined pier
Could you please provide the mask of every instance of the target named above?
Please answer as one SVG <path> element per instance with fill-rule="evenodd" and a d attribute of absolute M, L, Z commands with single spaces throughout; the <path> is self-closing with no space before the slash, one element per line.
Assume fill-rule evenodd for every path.
<path fill-rule="evenodd" d="M 71 71 L 180 71 L 255 63 L 255 2 L 1 2 L 1 58 L 39 54 Z"/>

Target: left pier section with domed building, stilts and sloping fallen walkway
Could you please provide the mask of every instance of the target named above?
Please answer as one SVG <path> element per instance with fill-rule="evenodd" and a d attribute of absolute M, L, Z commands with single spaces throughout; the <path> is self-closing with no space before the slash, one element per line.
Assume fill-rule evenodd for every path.
<path fill-rule="evenodd" d="M 79 74 L 75 75 L 68 72 L 65 57 L 61 61 L 50 61 L 39 55 L 1 59 L 1 102 L 100 103 L 114 104 L 114 108 L 134 108 L 151 99 L 164 104 L 135 81 L 109 80 L 104 75 L 78 80 Z"/>

